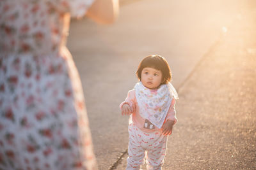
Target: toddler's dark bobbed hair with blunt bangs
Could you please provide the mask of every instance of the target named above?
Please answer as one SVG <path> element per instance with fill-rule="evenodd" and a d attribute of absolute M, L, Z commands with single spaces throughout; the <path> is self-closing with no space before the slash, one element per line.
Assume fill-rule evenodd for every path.
<path fill-rule="evenodd" d="M 151 67 L 162 72 L 162 83 L 167 84 L 172 80 L 172 73 L 166 59 L 160 55 L 148 55 L 143 60 L 141 60 L 138 69 L 136 71 L 137 77 L 141 81 L 141 71 L 145 67 Z"/>

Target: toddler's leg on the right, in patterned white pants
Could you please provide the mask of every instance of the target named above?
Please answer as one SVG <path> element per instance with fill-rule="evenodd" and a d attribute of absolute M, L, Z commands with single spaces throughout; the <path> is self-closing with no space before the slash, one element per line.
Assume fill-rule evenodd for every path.
<path fill-rule="evenodd" d="M 159 138 L 147 151 L 147 169 L 161 170 L 166 153 L 167 136 Z"/>

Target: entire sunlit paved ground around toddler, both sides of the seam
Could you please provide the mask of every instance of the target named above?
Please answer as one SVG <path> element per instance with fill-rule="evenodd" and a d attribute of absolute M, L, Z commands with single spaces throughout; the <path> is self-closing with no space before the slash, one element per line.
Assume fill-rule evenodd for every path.
<path fill-rule="evenodd" d="M 123 3 L 113 25 L 72 20 L 68 48 L 100 170 L 125 169 L 128 122 L 118 105 L 152 53 L 166 57 L 180 95 L 164 168 L 255 169 L 253 11 L 253 1 L 141 0 Z"/>

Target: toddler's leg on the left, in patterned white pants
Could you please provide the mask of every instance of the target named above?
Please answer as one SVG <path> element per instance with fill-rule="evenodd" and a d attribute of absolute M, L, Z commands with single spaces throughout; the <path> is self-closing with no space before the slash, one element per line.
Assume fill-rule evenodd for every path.
<path fill-rule="evenodd" d="M 128 145 L 128 158 L 127 170 L 139 170 L 145 157 L 145 149 L 140 145 L 137 140 L 138 134 L 134 130 L 134 126 L 129 125 L 129 145 Z"/>

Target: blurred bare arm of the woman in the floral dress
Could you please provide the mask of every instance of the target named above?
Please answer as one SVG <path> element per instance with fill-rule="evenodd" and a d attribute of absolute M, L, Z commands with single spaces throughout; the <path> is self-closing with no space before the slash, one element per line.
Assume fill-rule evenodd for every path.
<path fill-rule="evenodd" d="M 118 13 L 118 0 L 95 0 L 86 16 L 100 24 L 111 24 L 116 20 Z"/>

